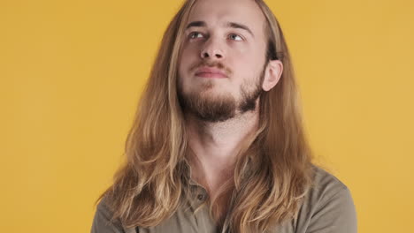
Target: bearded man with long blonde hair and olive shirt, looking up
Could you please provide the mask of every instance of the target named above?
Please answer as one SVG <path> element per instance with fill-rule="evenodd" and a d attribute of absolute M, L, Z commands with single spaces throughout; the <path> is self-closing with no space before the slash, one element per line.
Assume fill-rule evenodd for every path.
<path fill-rule="evenodd" d="M 262 0 L 186 1 L 92 232 L 357 232 L 349 189 L 311 163 L 296 95 Z"/>

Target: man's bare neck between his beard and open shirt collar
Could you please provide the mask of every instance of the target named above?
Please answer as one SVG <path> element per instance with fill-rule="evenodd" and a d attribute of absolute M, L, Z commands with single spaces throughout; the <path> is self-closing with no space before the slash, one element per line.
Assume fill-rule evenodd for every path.
<path fill-rule="evenodd" d="M 234 162 L 243 142 L 256 132 L 257 111 L 230 120 L 207 123 L 187 115 L 188 145 L 196 156 L 189 158 L 192 178 L 215 195 L 219 186 L 233 175 Z"/>

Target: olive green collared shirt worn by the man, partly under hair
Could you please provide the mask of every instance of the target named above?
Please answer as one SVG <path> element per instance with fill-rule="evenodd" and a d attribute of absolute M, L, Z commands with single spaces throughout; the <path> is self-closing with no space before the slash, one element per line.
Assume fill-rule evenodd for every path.
<path fill-rule="evenodd" d="M 314 186 L 304 197 L 296 219 L 274 226 L 271 233 L 356 233 L 357 213 L 349 188 L 339 179 L 317 166 Z M 191 180 L 190 180 L 191 181 Z M 211 220 L 208 205 L 203 205 L 208 198 L 206 190 L 195 182 L 192 196 L 188 199 L 189 208 L 179 208 L 172 217 L 151 228 L 125 228 L 121 223 L 111 223 L 111 211 L 104 204 L 104 199 L 96 207 L 92 223 L 92 233 L 219 233 Z M 226 222 L 221 232 L 226 232 Z"/>

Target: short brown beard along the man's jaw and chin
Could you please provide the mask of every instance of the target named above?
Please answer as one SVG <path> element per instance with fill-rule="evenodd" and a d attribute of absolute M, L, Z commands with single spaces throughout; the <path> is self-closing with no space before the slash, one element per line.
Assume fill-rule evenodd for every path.
<path fill-rule="evenodd" d="M 206 92 L 214 87 L 214 83 L 209 80 L 203 83 L 201 91 L 192 91 L 184 93 L 181 83 L 178 85 L 178 98 L 180 106 L 186 113 L 191 113 L 200 120 L 210 123 L 224 122 L 234 118 L 237 112 L 240 114 L 256 109 L 257 99 L 262 94 L 262 83 L 265 77 L 265 69 L 261 72 L 253 89 L 249 89 L 248 82 L 244 82 L 240 86 L 241 100 L 236 101 L 230 93 L 217 94 L 211 96 Z"/>

